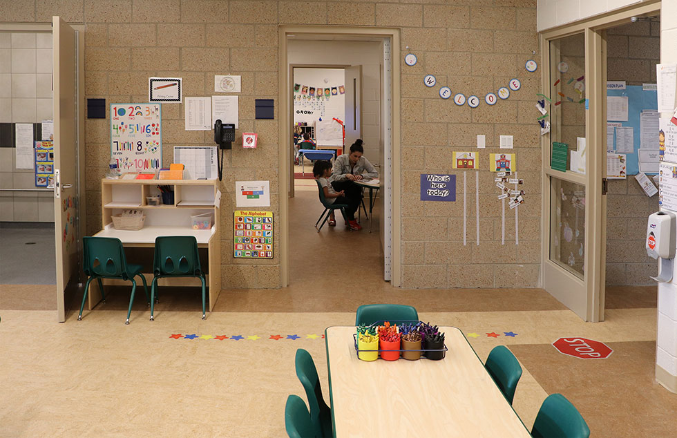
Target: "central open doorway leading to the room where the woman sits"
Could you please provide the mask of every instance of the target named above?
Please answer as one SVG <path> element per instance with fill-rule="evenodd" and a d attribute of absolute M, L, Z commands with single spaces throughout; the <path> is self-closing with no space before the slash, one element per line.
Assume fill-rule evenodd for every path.
<path fill-rule="evenodd" d="M 391 106 L 386 102 L 390 93 L 388 99 L 383 93 L 390 80 L 385 78 L 386 73 L 390 75 L 390 39 L 289 35 L 287 67 L 290 114 L 286 154 L 287 169 L 293 169 L 287 173 L 289 279 L 298 284 L 312 281 L 312 273 L 319 270 L 338 274 L 347 269 L 359 271 L 362 277 L 369 277 L 368 283 L 383 287 L 387 284 L 383 280 L 390 280 L 390 202 L 384 202 L 390 190 L 383 190 L 383 170 L 390 160 L 392 136 Z M 379 190 L 364 190 L 355 215 L 363 227 L 361 231 L 344 227 L 340 213 L 336 213 L 335 226 L 327 222 L 320 232 L 316 231 L 314 225 L 325 207 L 319 200 L 312 164 L 307 158 L 302 161 L 294 150 L 295 131 L 297 137 L 307 134 L 314 149 L 331 151 L 332 164 L 339 155 L 348 154 L 358 138 L 363 141 L 363 157 L 374 166 L 376 184 L 381 185 L 376 185 Z M 297 157 L 300 159 L 295 165 Z M 390 172 L 390 166 L 387 169 L 385 173 Z M 318 257 L 321 254 L 327 257 Z M 313 269 L 308 269 L 309 257 L 314 260 Z"/>

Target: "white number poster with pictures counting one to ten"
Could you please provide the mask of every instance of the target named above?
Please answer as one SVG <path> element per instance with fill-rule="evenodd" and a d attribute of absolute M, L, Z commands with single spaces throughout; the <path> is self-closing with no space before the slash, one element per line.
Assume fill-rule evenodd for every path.
<path fill-rule="evenodd" d="M 122 172 L 162 167 L 160 104 L 111 104 L 111 157 Z"/>

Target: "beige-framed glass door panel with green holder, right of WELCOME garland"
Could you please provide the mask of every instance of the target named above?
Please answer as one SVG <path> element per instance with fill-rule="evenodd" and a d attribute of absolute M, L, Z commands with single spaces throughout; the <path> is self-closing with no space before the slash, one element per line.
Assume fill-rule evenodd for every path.
<path fill-rule="evenodd" d="M 542 84 L 547 97 L 539 99 L 544 99 L 548 117 L 543 120 L 550 122 L 550 132 L 542 135 L 543 284 L 585 321 L 599 321 L 595 297 L 600 294 L 599 164 L 604 140 L 599 140 L 595 124 L 600 123 L 596 113 L 603 105 L 598 92 L 604 82 L 597 62 L 602 40 L 586 29 L 544 39 L 544 47 Z"/>

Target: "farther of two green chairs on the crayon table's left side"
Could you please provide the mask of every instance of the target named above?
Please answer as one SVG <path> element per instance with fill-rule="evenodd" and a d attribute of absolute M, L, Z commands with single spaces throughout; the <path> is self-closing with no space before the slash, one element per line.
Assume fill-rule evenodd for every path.
<path fill-rule="evenodd" d="M 315 362 L 310 353 L 303 348 L 296 350 L 296 377 L 301 381 L 305 395 L 308 397 L 310 419 L 315 430 L 314 436 L 333 437 L 332 410 L 322 397 L 322 388 L 320 379 L 317 377 Z"/>

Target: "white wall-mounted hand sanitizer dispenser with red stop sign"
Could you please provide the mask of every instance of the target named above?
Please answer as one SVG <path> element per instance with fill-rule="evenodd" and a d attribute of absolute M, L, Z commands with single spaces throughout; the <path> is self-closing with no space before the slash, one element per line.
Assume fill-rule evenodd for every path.
<path fill-rule="evenodd" d="M 676 247 L 675 213 L 658 211 L 649 216 L 647 223 L 647 254 L 660 257 L 658 276 L 651 277 L 661 283 L 672 280 Z"/>

